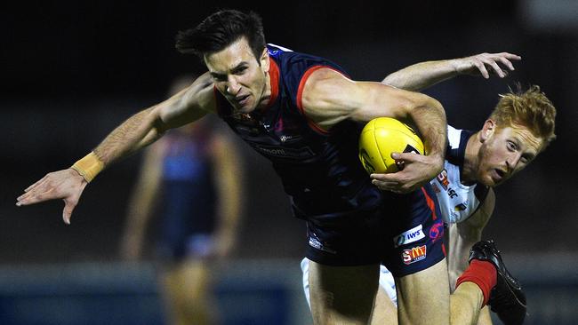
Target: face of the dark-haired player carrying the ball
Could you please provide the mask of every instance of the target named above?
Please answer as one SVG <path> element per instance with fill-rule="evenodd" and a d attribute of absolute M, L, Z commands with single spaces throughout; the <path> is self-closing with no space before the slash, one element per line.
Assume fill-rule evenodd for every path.
<path fill-rule="evenodd" d="M 263 52 L 258 59 L 245 37 L 221 52 L 205 55 L 206 67 L 217 90 L 238 113 L 250 113 L 269 99 L 269 57 Z"/>

